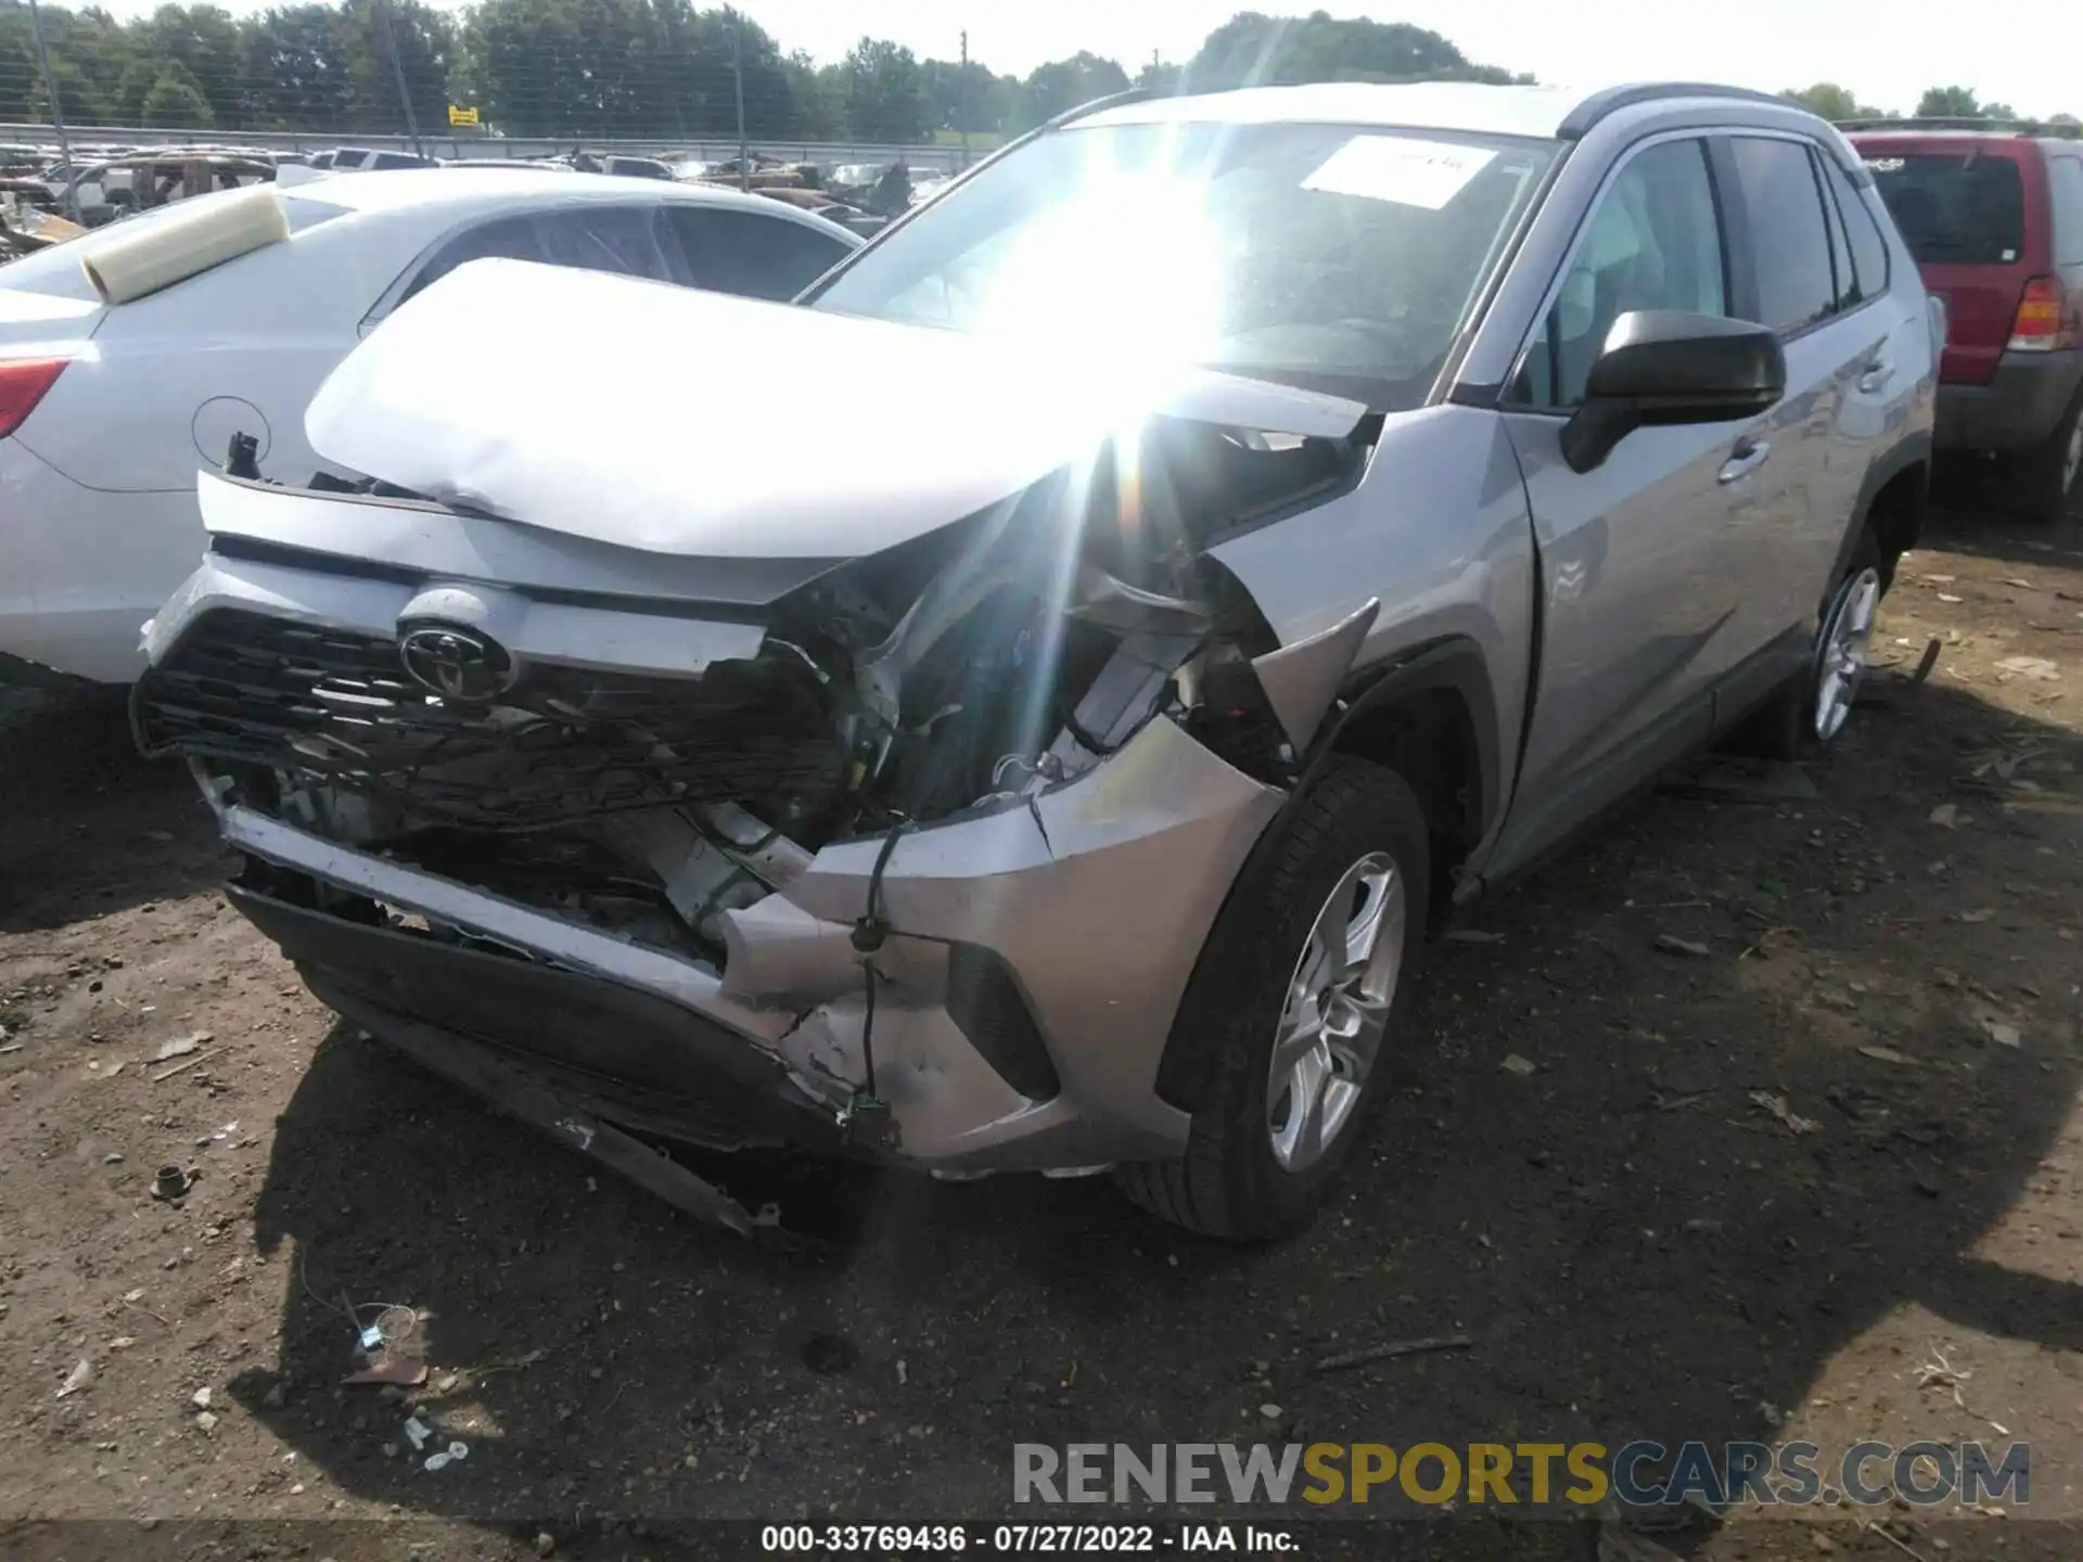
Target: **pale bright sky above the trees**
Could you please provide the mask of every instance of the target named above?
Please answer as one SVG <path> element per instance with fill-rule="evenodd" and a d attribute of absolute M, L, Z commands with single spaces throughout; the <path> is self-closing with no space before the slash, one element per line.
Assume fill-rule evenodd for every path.
<path fill-rule="evenodd" d="M 256 10 L 256 0 L 219 0 Z M 458 8 L 462 0 L 435 0 Z M 708 0 L 696 0 L 706 4 Z M 117 15 L 156 0 L 112 0 Z M 2025 115 L 2083 115 L 2077 0 L 1985 0 L 1973 10 L 1918 10 L 1885 0 L 1746 0 L 1735 8 L 1683 0 L 737 0 L 779 40 L 821 60 L 864 33 L 921 58 L 969 56 L 1027 75 L 1077 50 L 1129 67 L 1152 52 L 1183 60 L 1237 10 L 1408 21 L 1452 40 L 1481 65 L 1531 71 L 1558 85 L 1687 79 L 1779 92 L 1839 81 L 1866 104 L 1910 110 L 1931 85 L 1973 87 Z"/>

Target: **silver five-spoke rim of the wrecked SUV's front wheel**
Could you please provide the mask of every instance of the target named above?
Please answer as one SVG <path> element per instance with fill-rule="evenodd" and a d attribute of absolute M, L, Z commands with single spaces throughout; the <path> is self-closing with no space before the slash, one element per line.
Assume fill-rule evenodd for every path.
<path fill-rule="evenodd" d="M 1314 1166 L 1352 1123 L 1396 1002 L 1406 918 L 1404 875 L 1369 852 L 1310 925 L 1266 1070 L 1266 1139 L 1283 1170 Z"/>

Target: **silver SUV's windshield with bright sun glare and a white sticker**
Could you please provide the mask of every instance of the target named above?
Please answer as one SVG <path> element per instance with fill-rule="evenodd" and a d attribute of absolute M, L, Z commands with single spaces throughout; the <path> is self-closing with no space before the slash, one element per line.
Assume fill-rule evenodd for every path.
<path fill-rule="evenodd" d="M 1554 158 L 1339 125 L 1042 135 L 864 250 L 817 308 L 1419 404 Z"/>

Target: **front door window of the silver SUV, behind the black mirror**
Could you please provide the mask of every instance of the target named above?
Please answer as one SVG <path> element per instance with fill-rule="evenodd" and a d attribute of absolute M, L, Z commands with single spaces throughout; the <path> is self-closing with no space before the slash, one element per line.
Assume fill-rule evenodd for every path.
<path fill-rule="evenodd" d="M 1510 400 L 1577 406 L 1614 321 L 1637 308 L 1729 312 L 1704 142 L 1660 142 L 1637 152 L 1612 179 L 1527 350 Z"/>

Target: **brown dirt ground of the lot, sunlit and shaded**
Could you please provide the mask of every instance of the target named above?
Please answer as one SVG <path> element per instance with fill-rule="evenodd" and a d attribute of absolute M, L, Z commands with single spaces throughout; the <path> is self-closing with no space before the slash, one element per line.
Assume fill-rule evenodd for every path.
<path fill-rule="evenodd" d="M 185 775 L 108 702 L 8 700 L 0 1552 L 656 1556 L 1002 1514 L 1014 1441 L 1646 1435 L 2033 1447 L 2029 1512 L 1696 1516 L 1681 1554 L 2083 1554 L 2083 529 L 1927 541 L 1839 750 L 1664 787 L 1473 908 L 1344 1202 L 1256 1252 L 1104 1179 L 812 1173 L 783 1206 L 837 1254 L 756 1254 L 335 1029 Z M 379 1304 L 408 1395 L 340 1383 Z M 412 1408 L 469 1458 L 408 1458 Z"/>

